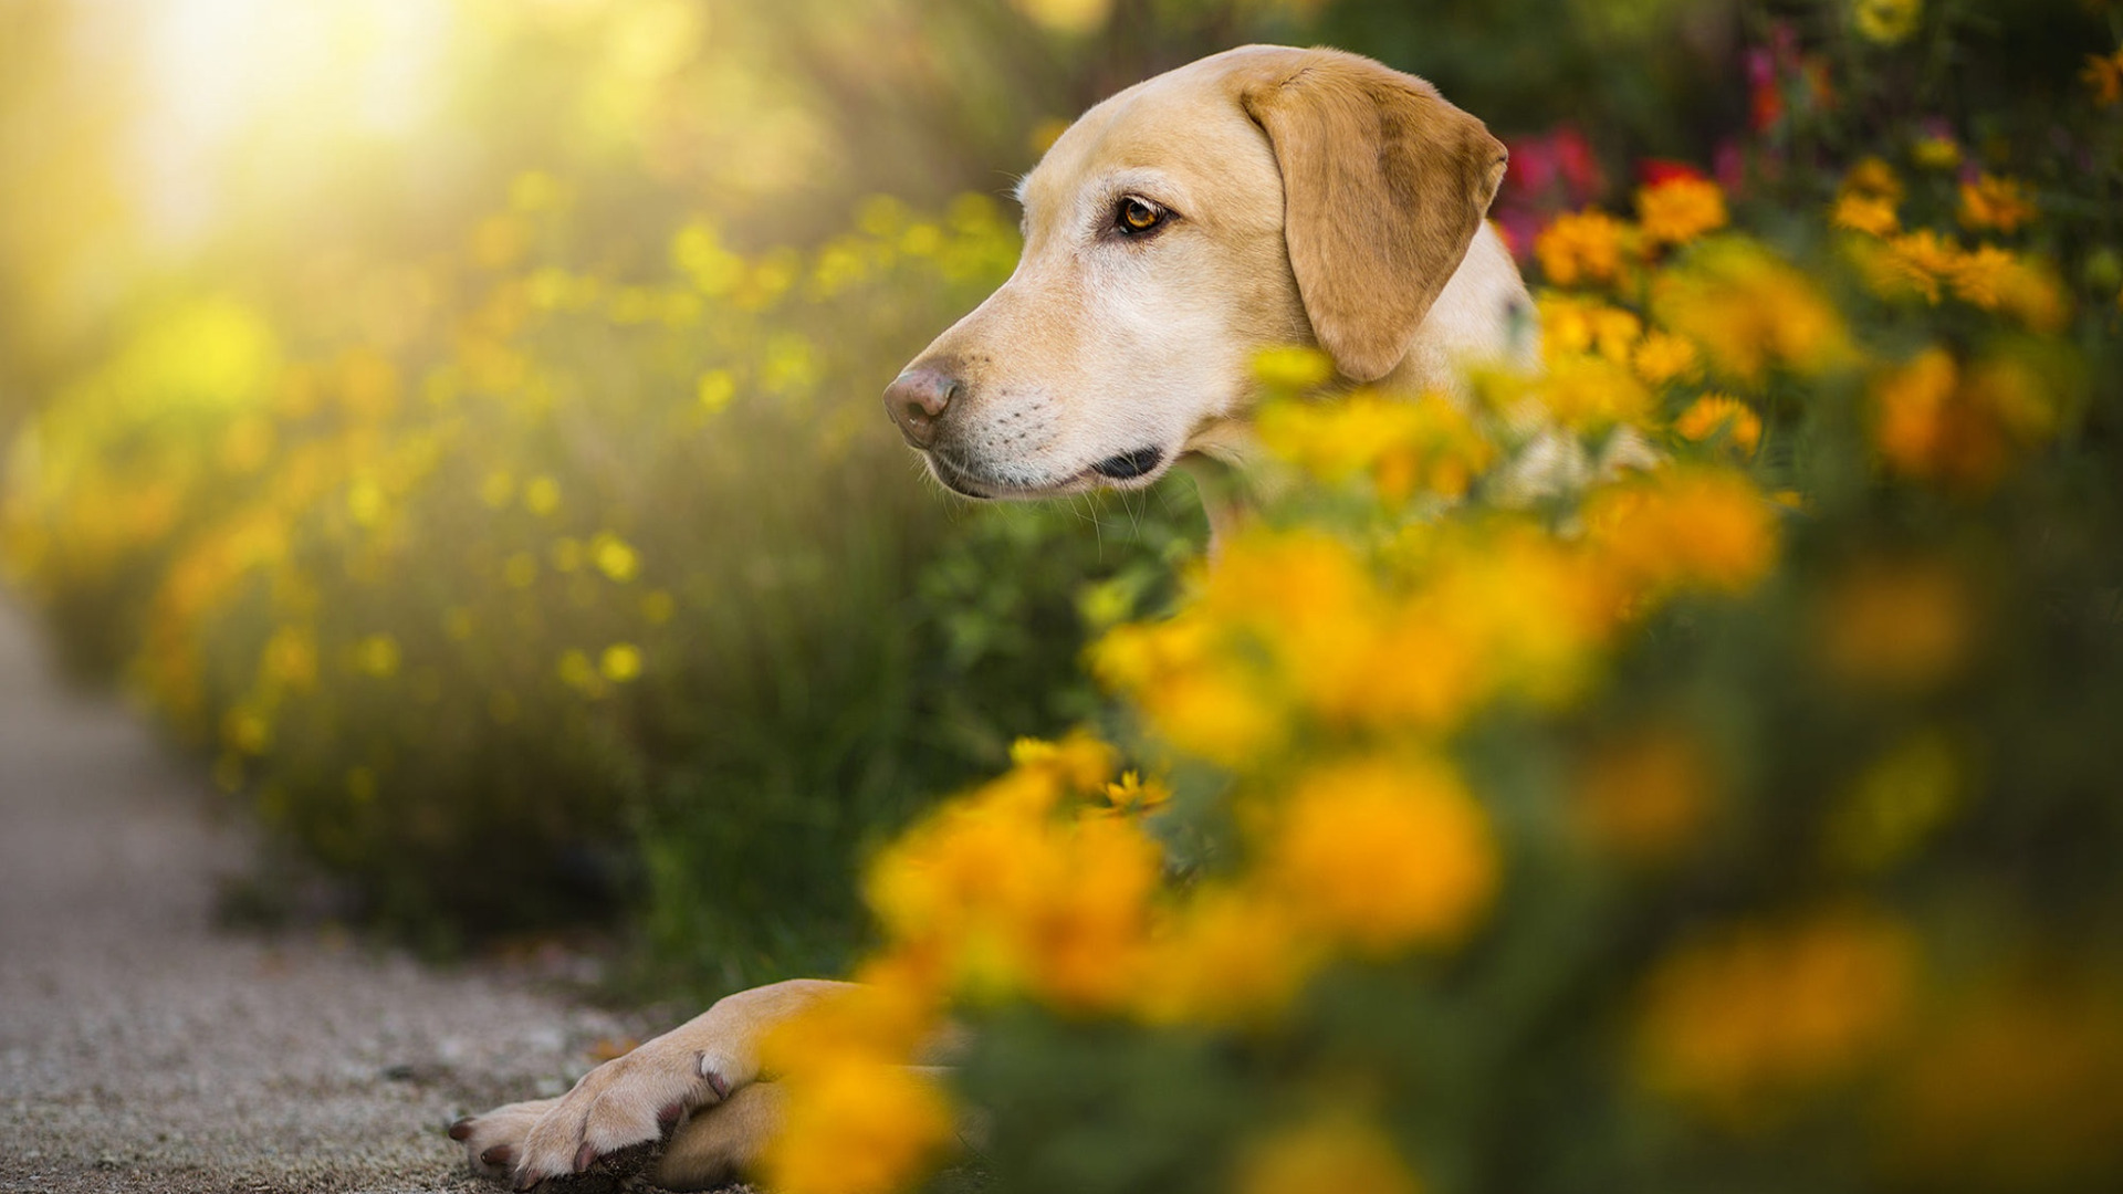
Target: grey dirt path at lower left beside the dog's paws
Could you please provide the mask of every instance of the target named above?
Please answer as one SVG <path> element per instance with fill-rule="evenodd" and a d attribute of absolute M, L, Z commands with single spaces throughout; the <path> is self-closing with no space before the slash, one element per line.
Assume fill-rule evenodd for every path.
<path fill-rule="evenodd" d="M 210 924 L 195 767 L 62 688 L 0 599 L 0 1192 L 410 1192 L 442 1126 L 637 1030 L 501 973 Z"/>

